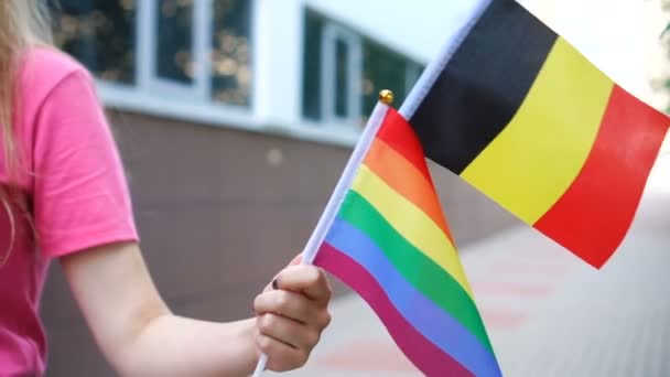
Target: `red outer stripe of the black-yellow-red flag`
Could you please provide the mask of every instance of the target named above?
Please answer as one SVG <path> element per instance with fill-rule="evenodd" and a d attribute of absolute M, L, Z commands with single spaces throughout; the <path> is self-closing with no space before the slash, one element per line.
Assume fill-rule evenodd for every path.
<path fill-rule="evenodd" d="M 601 268 L 633 223 L 669 125 L 615 86 L 582 172 L 534 227 Z"/>

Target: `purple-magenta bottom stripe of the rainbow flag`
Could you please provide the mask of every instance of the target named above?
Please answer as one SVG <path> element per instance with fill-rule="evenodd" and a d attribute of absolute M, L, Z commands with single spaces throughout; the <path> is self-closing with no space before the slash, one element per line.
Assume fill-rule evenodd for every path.
<path fill-rule="evenodd" d="M 426 376 L 473 376 L 407 322 L 377 280 L 349 256 L 324 243 L 314 265 L 323 267 L 356 291 L 377 313 L 400 349 Z"/>

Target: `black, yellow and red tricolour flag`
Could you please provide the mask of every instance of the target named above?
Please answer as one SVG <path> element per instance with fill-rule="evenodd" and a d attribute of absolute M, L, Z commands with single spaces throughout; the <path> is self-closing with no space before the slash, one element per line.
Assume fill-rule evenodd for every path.
<path fill-rule="evenodd" d="M 400 108 L 425 154 L 599 268 L 670 120 L 514 0 L 474 0 Z"/>

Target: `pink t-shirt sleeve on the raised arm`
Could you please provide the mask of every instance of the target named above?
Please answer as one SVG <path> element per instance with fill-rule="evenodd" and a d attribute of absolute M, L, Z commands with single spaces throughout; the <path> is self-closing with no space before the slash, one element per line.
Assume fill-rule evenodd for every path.
<path fill-rule="evenodd" d="M 48 257 L 138 241 L 119 151 L 94 80 L 64 77 L 35 118 L 33 205 L 37 244 Z"/>

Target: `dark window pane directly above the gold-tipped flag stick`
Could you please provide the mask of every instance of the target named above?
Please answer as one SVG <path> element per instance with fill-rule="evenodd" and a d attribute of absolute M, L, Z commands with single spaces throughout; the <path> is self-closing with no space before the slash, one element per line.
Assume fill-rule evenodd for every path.
<path fill-rule="evenodd" d="M 379 90 L 393 91 L 393 106 L 400 106 L 407 96 L 407 60 L 382 45 L 366 41 L 363 46 L 363 117 L 369 117 L 379 97 Z"/>

